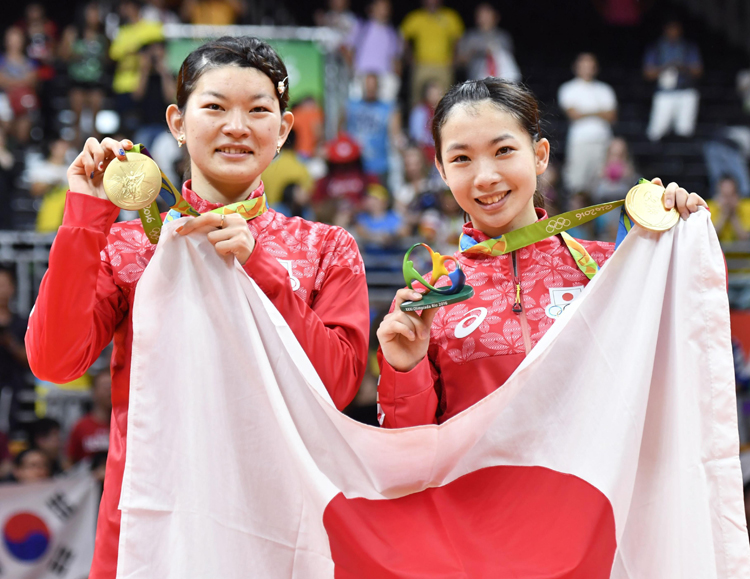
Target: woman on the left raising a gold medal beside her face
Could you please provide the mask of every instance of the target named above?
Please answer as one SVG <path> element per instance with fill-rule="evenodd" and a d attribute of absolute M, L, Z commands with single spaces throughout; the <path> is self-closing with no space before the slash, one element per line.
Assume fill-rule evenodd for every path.
<path fill-rule="evenodd" d="M 286 111 L 287 81 L 279 56 L 256 38 L 223 37 L 185 59 L 167 121 L 190 154 L 192 180 L 182 195 L 202 215 L 177 231 L 207 233 L 219 255 L 234 256 L 284 316 L 343 409 L 357 392 L 367 361 L 367 285 L 352 236 L 273 209 L 247 222 L 237 213 L 206 213 L 263 196 L 261 173 L 294 122 Z M 102 186 L 107 165 L 125 159 L 131 147 L 127 140 L 90 138 L 68 169 L 63 224 L 26 338 L 32 371 L 52 382 L 81 376 L 114 339 L 112 432 L 90 579 L 116 575 L 133 304 L 156 248 L 139 221 L 115 223 L 119 209 Z"/>

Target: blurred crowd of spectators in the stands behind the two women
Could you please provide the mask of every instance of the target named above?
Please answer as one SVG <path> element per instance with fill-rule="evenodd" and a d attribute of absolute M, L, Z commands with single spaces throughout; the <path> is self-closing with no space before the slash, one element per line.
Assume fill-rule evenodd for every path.
<path fill-rule="evenodd" d="M 283 2 L 276 4 L 263 23 L 290 23 Z M 638 2 L 603 4 L 609 6 L 605 21 L 622 24 L 630 18 L 628 6 L 635 10 Z M 23 17 L 0 31 L 0 230 L 57 230 L 67 167 L 90 136 L 143 143 L 173 182 L 182 183 L 185 153 L 164 121 L 175 98 L 164 25 L 257 23 L 253 9 L 248 0 L 80 0 L 71 3 L 69 22 L 54 22 L 42 4 L 27 3 Z M 473 16 L 464 22 L 443 0 L 421 0 L 419 6 L 414 0 L 400 22 L 392 18 L 391 0 L 369 0 L 361 12 L 352 11 L 348 0 L 329 0 L 315 12 L 315 24 L 340 38 L 336 57 L 348 96 L 331 135 L 325 103 L 295 94 L 291 86 L 294 129 L 263 175 L 269 204 L 351 231 L 369 271 L 397 272 L 416 240 L 452 253 L 466 216 L 434 165 L 435 107 L 458 81 L 525 78 L 511 32 L 521 23 L 501 27 L 497 3 L 479 3 Z M 581 53 L 571 65 L 571 78 L 556 99 L 568 126 L 555 156 L 564 162 L 553 162 L 539 181 L 550 214 L 622 199 L 641 177 L 628 141 L 613 130 L 618 95 L 598 80 L 597 55 Z M 650 141 L 694 135 L 702 75 L 698 44 L 680 22 L 665 21 L 662 35 L 642 55 L 643 83 L 653 87 L 644 119 Z M 750 70 L 738 74 L 737 99 L 750 111 Z M 727 127 L 705 143 L 704 153 L 709 186 L 699 193 L 711 197 L 720 239 L 748 241 L 750 128 Z M 614 240 L 617 219 L 610 213 L 572 233 Z M 14 285 L 13 272 L 0 269 L 0 389 L 16 392 L 32 383 L 23 349 L 25 321 L 9 306 Z M 373 309 L 373 328 L 382 315 Z M 371 371 L 349 412 L 374 424 L 374 332 L 371 338 Z M 738 364 L 738 376 L 750 371 L 744 359 Z M 14 458 L 0 432 L 0 478 L 39 480 L 85 457 L 100 469 L 110 411 L 106 365 L 90 384 L 89 408 L 75 423 L 20 421 L 13 402 L 0 431 L 14 433 Z"/>

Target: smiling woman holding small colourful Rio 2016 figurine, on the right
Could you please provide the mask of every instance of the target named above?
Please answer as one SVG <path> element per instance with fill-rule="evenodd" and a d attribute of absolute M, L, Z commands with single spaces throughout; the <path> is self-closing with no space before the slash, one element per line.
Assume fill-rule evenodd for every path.
<path fill-rule="evenodd" d="M 421 295 L 396 293 L 377 332 L 384 427 L 442 423 L 502 386 L 593 275 L 559 235 L 503 255 L 466 251 L 547 217 L 537 183 L 550 145 L 539 121 L 528 89 L 495 78 L 457 85 L 438 104 L 435 164 L 470 217 L 462 238 L 469 243 L 454 256 L 474 296 L 418 315 L 399 306 Z M 683 218 L 706 205 L 676 183 L 664 204 Z M 596 262 L 587 262 L 594 271 L 614 251 L 610 243 L 573 242 Z"/>

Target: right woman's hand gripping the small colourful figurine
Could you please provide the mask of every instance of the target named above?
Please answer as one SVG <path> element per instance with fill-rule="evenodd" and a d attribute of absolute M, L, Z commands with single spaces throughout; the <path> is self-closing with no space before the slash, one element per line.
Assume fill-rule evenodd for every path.
<path fill-rule="evenodd" d="M 378 328 L 378 341 L 385 360 L 399 372 L 408 372 L 427 355 L 430 326 L 438 308 L 416 312 L 401 311 L 405 301 L 418 301 L 422 294 L 403 288 L 396 292 L 393 311 L 383 318 Z"/>

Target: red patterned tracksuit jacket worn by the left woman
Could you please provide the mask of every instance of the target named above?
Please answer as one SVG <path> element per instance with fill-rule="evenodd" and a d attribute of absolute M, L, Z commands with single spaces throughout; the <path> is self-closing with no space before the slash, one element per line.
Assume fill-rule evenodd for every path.
<path fill-rule="evenodd" d="M 189 189 L 199 212 L 218 207 Z M 263 194 L 263 185 L 251 197 Z M 34 374 L 67 382 L 91 366 L 114 338 L 112 427 L 91 579 L 114 579 L 138 280 L 154 254 L 140 221 L 115 223 L 107 200 L 68 193 L 65 216 L 29 320 L 26 348 Z M 248 223 L 256 246 L 244 266 L 286 319 L 334 403 L 354 397 L 367 360 L 369 304 L 364 266 L 345 230 L 269 209 Z"/>

